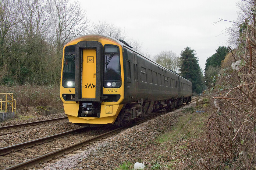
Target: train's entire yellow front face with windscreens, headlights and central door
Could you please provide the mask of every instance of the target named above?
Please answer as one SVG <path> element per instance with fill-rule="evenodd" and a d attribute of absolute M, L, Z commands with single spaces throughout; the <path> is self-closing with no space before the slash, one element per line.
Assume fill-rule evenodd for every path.
<path fill-rule="evenodd" d="M 122 46 L 99 39 L 64 47 L 61 98 L 69 121 L 113 124 L 123 107 Z"/>

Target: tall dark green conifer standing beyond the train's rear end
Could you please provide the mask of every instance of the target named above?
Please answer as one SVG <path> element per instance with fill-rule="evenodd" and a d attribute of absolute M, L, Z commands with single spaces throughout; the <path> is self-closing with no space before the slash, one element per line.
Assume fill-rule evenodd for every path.
<path fill-rule="evenodd" d="M 196 51 L 186 47 L 180 53 L 180 73 L 185 79 L 192 82 L 192 90 L 201 93 L 204 87 L 202 70 L 198 64 Z"/>

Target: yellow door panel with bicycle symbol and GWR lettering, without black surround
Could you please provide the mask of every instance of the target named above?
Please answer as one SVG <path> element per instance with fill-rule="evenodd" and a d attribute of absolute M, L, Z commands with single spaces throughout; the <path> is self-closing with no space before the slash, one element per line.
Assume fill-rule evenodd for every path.
<path fill-rule="evenodd" d="M 96 49 L 83 49 L 82 98 L 96 98 Z"/>

